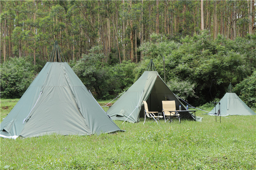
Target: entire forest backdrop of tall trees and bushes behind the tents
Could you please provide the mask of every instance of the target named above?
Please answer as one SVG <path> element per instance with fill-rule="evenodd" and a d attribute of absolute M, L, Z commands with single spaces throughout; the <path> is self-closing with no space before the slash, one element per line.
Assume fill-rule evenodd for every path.
<path fill-rule="evenodd" d="M 113 99 L 150 59 L 195 106 L 234 91 L 256 107 L 255 1 L 1 1 L 1 98 L 20 98 L 54 41 L 97 99 Z M 164 77 L 164 66 L 166 79 Z"/>

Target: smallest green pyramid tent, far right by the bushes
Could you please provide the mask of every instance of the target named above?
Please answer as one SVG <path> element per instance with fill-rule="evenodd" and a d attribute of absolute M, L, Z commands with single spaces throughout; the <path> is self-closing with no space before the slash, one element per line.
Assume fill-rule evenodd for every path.
<path fill-rule="evenodd" d="M 213 107 L 211 113 L 218 113 L 220 109 L 220 115 L 256 115 L 256 113 L 248 107 L 243 100 L 241 100 L 236 93 L 232 92 L 231 83 L 228 86 L 228 91 L 220 100 L 219 103 Z"/>

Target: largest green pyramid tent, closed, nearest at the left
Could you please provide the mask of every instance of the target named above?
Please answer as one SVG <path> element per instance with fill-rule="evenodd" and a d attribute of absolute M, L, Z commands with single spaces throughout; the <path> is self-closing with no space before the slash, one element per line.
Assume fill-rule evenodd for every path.
<path fill-rule="evenodd" d="M 68 63 L 62 62 L 57 42 L 53 50 L 56 52 L 59 56 L 51 57 L 52 62 L 45 64 L 1 122 L 0 136 L 92 135 L 121 130 Z"/>

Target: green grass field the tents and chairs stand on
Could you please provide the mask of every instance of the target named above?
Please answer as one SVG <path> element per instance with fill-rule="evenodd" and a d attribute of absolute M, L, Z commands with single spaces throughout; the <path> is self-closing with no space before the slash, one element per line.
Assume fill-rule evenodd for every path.
<path fill-rule="evenodd" d="M 1 100 L 1 122 L 17 101 Z M 202 122 L 115 121 L 126 131 L 99 136 L 0 138 L 0 168 L 256 169 L 256 116 L 221 117 L 220 123 L 203 113 L 196 113 Z"/>

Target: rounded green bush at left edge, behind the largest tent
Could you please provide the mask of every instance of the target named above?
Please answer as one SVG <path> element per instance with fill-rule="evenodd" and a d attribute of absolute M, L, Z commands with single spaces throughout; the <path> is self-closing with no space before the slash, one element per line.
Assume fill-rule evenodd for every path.
<path fill-rule="evenodd" d="M 20 98 L 35 78 L 34 65 L 24 58 L 1 64 L 1 98 Z"/>

